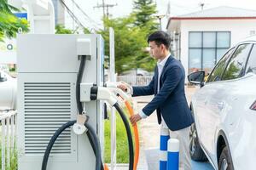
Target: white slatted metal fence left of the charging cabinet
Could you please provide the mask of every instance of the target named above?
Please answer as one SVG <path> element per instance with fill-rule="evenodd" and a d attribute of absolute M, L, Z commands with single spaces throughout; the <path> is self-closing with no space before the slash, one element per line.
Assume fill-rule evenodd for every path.
<path fill-rule="evenodd" d="M 0 139 L 1 139 L 1 167 L 9 169 L 10 161 L 15 154 L 15 132 L 17 111 L 0 112 Z"/>

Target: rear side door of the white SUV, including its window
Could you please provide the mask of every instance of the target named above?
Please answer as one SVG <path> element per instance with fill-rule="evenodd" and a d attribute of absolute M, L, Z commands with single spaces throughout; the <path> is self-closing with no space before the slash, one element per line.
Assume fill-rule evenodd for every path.
<path fill-rule="evenodd" d="M 241 81 L 241 78 L 244 77 L 247 56 L 251 48 L 251 43 L 238 45 L 228 60 L 221 80 L 212 83 L 214 93 L 208 99 L 207 109 L 213 122 L 212 126 L 207 125 L 205 128 L 207 129 L 207 135 L 212 137 L 212 143 L 207 144 L 206 147 L 214 155 L 216 154 L 216 141 L 219 131 L 224 131 L 226 136 L 228 136 L 230 131 L 230 108 L 232 108 L 233 103 L 237 99 L 237 96 L 234 95 L 234 91 L 236 91 L 235 87 Z"/>

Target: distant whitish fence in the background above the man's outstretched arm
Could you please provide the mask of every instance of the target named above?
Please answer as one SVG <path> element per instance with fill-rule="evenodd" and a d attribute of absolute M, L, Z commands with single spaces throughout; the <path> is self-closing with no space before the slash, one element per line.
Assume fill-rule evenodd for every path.
<path fill-rule="evenodd" d="M 123 81 L 131 86 L 146 86 L 153 76 L 118 76 L 117 81 Z"/>

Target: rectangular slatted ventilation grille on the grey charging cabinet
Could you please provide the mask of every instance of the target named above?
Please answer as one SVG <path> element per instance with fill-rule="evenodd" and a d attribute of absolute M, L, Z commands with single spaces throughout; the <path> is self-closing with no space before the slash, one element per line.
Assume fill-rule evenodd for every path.
<path fill-rule="evenodd" d="M 25 82 L 25 153 L 44 154 L 49 139 L 71 119 L 70 83 Z M 62 132 L 51 153 L 71 153 L 70 128 Z"/>

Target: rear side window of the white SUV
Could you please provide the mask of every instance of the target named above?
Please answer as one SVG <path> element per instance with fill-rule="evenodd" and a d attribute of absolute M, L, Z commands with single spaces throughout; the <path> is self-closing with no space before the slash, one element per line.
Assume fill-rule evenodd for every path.
<path fill-rule="evenodd" d="M 230 59 L 229 65 L 224 71 L 222 80 L 232 80 L 242 77 L 245 73 L 247 56 L 252 48 L 252 44 L 241 44 Z"/>

